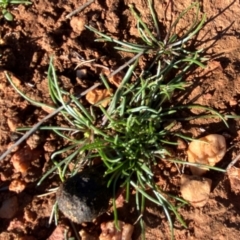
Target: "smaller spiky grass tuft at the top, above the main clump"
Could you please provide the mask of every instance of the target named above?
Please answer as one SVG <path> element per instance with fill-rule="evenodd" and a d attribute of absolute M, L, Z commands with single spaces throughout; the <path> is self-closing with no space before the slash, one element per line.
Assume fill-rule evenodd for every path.
<path fill-rule="evenodd" d="M 157 70 L 154 70 L 156 73 L 156 75 L 153 76 L 154 78 L 163 77 L 161 74 L 164 74 L 164 77 L 166 77 L 168 72 L 173 69 L 179 69 L 179 67 L 181 68 L 181 71 L 183 71 L 183 74 L 185 74 L 194 64 L 204 67 L 202 62 L 205 59 L 200 58 L 202 50 L 189 51 L 186 48 L 188 41 L 199 32 L 206 19 L 205 14 L 200 18 L 199 4 L 193 3 L 184 10 L 172 23 L 170 28 L 167 30 L 166 36 L 164 37 L 161 36 L 159 23 L 151 0 L 148 0 L 148 5 L 152 16 L 150 22 L 152 21 L 153 23 L 153 26 L 150 26 L 151 28 L 142 21 L 141 16 L 137 13 L 134 6 L 129 6 L 132 14 L 137 20 L 137 29 L 139 36 L 142 39 L 141 44 L 120 41 L 99 32 L 92 26 L 86 26 L 89 30 L 95 32 L 99 36 L 96 40 L 97 42 L 112 42 L 117 45 L 114 47 L 116 50 L 136 54 L 134 58 L 129 60 L 126 64 L 124 64 L 124 66 L 121 66 L 115 72 L 128 66 L 134 62 L 136 58 L 139 58 L 142 55 L 148 55 L 150 58 L 148 68 L 143 70 L 144 74 L 148 74 L 157 65 Z M 176 33 L 176 26 L 179 21 L 193 10 L 195 11 L 195 18 L 192 20 L 192 24 L 181 32 L 181 34 Z M 180 79 L 178 78 L 178 82 L 180 82 Z M 169 82 L 168 85 L 171 86 L 172 83 L 173 81 Z"/>

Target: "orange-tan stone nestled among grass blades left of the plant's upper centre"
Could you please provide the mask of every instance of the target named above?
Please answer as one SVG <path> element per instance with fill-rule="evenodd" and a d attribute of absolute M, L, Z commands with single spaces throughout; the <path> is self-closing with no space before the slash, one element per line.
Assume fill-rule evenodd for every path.
<path fill-rule="evenodd" d="M 86 94 L 86 100 L 90 104 L 101 104 L 102 107 L 107 107 L 111 101 L 112 89 L 94 89 Z"/>

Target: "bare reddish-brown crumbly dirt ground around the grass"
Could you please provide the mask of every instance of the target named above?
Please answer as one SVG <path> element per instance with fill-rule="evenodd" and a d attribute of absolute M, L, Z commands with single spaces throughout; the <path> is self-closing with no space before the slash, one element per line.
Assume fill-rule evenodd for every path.
<path fill-rule="evenodd" d="M 191 2 L 155 0 L 155 9 L 162 27 L 169 26 Z M 139 37 L 135 28 L 136 22 L 130 14 L 128 4 L 135 4 L 144 21 L 148 22 L 149 19 L 147 3 L 144 0 L 95 0 L 71 20 L 65 18 L 83 3 L 83 0 L 33 0 L 30 6 L 12 8 L 14 21 L 0 19 L 0 34 L 5 42 L 0 46 L 0 153 L 18 137 L 14 133 L 15 127 L 32 126 L 46 115 L 44 110 L 29 104 L 13 90 L 5 79 L 4 70 L 16 76 L 15 83 L 29 97 L 48 103 L 50 98 L 46 73 L 50 56 L 54 56 L 58 77 L 69 91 L 81 88 L 76 80 L 75 53 L 85 59 L 97 59 L 98 63 L 111 68 L 126 61 L 127 56 L 113 51 L 110 44 L 94 42 L 96 36 L 86 30 L 84 24 L 90 24 L 121 40 L 136 41 Z M 206 69 L 196 71 L 195 75 L 186 79 L 192 85 L 186 94 L 178 96 L 175 101 L 198 103 L 222 113 L 240 114 L 240 3 L 235 0 L 202 0 L 200 3 L 201 12 L 207 15 L 207 22 L 194 45 L 206 49 L 209 61 Z M 189 23 L 182 24 L 184 26 Z M 93 74 L 85 84 L 91 86 L 96 80 Z M 54 118 L 49 124 L 52 121 L 61 119 Z M 216 120 L 198 119 L 182 123 L 181 127 L 184 133 L 193 137 L 224 133 L 229 151 L 219 166 L 226 167 L 240 152 L 239 122 L 228 122 L 230 127 L 226 128 Z M 0 239 L 48 239 L 55 229 L 54 223 L 48 224 L 55 196 L 38 195 L 49 188 L 57 187 L 60 181 L 53 177 L 43 182 L 40 187 L 36 187 L 36 182 L 46 171 L 50 154 L 61 147 L 61 141 L 48 132 L 41 132 L 37 137 L 39 139 L 36 146 L 32 146 L 32 140 L 20 146 L 31 159 L 27 172 L 16 172 L 10 161 L 11 156 L 0 162 L 0 207 L 4 204 L 11 206 L 7 208 L 9 212 L 0 210 Z M 29 147 L 34 148 L 30 151 L 31 155 Z M 164 171 L 164 168 L 169 166 L 162 168 Z M 239 239 L 239 194 L 232 191 L 229 179 L 223 173 L 210 171 L 207 177 L 213 181 L 210 200 L 203 208 L 186 206 L 179 210 L 188 229 L 175 221 L 176 240 Z M 177 173 L 164 176 L 162 181 L 166 183 L 166 190 L 176 193 L 178 178 Z M 25 186 L 21 193 L 8 190 L 10 183 L 16 179 L 21 180 Z M 134 214 L 122 215 L 122 219 L 127 223 L 133 224 L 136 221 Z M 71 229 L 70 222 L 62 215 L 60 222 Z M 162 209 L 149 206 L 146 223 L 146 239 L 170 239 L 168 222 Z M 82 228 L 88 230 L 88 226 L 76 225 L 76 228 L 78 231 Z M 95 229 L 99 229 L 99 225 L 95 226 Z M 136 228 L 133 239 L 138 238 L 139 231 Z"/>

